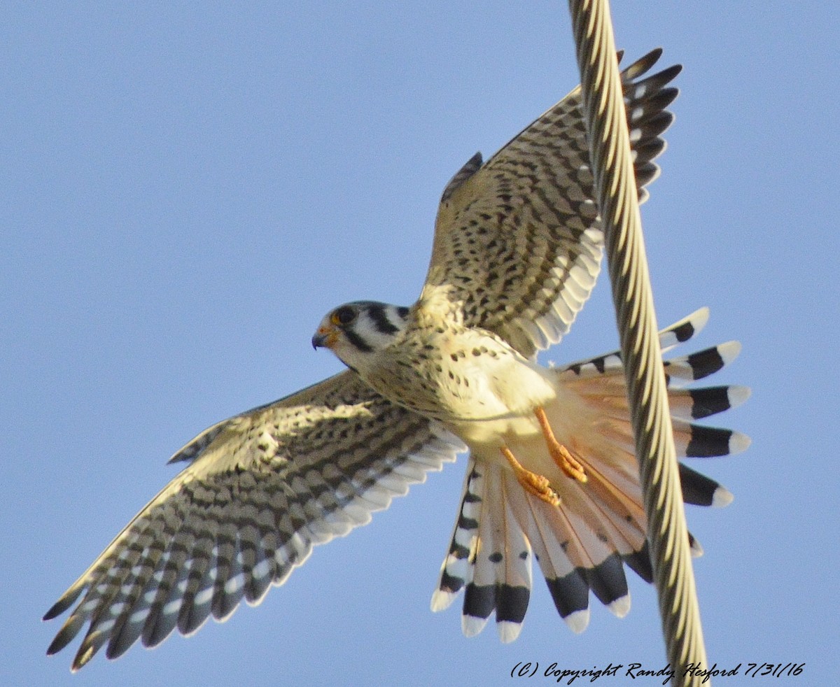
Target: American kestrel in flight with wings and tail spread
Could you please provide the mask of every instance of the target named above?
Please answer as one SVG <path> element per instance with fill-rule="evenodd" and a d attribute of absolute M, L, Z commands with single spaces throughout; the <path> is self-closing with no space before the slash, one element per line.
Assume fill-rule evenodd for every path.
<path fill-rule="evenodd" d="M 655 50 L 622 73 L 640 200 L 676 96 L 679 66 L 645 75 Z M 623 564 L 651 579 L 645 515 L 618 354 L 543 367 L 595 285 L 604 239 L 593 201 L 580 89 L 444 189 L 428 277 L 411 307 L 351 302 L 312 338 L 349 370 L 213 425 L 171 459 L 186 468 L 129 522 L 45 618 L 81 595 L 48 653 L 83 626 L 78 669 L 139 637 L 195 632 L 256 604 L 312 546 L 344 536 L 428 471 L 469 449 L 463 497 L 432 608 L 464 591 L 463 629 L 495 612 L 516 638 L 536 559 L 560 616 L 582 631 L 590 591 L 629 608 Z M 706 322 L 664 330 L 664 348 Z M 743 435 L 692 424 L 743 401 L 742 387 L 680 389 L 738 354 L 729 343 L 665 363 L 677 451 L 731 454 Z M 731 495 L 680 466 L 688 503 Z M 692 540 L 693 541 L 693 540 Z M 695 545 L 696 551 L 699 547 Z M 82 595 L 83 594 L 83 595 Z"/>

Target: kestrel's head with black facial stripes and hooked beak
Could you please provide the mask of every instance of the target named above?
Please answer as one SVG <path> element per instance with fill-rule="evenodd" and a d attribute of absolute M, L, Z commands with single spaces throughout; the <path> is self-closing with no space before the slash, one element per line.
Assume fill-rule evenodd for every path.
<path fill-rule="evenodd" d="M 373 301 L 345 303 L 321 320 L 312 337 L 312 347 L 324 347 L 353 370 L 364 370 L 365 362 L 390 346 L 406 328 L 408 308 Z"/>

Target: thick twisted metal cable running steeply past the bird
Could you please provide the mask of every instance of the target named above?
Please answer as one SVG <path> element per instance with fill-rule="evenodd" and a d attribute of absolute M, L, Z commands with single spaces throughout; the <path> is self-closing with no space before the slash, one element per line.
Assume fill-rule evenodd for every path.
<path fill-rule="evenodd" d="M 654 297 L 607 0 L 570 0 L 583 108 L 621 337 L 659 615 L 675 684 L 706 668 Z"/>

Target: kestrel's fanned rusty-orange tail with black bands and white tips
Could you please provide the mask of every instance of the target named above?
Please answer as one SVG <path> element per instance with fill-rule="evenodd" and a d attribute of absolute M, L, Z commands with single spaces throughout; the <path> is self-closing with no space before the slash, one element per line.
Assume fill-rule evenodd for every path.
<path fill-rule="evenodd" d="M 663 349 L 688 341 L 707 319 L 704 308 L 664 329 L 659 334 Z M 672 371 L 669 399 L 680 457 L 724 456 L 747 448 L 749 440 L 741 433 L 693 422 L 743 403 L 746 388 L 685 389 L 673 383 L 711 375 L 737 354 L 738 345 L 730 343 L 665 362 Z M 621 356 L 586 359 L 557 369 L 557 375 L 568 392 L 568 406 L 559 414 L 592 427 L 588 434 L 578 427 L 569 442 L 589 480 L 555 485 L 560 504 L 552 507 L 524 490 L 505 464 L 470 459 L 459 517 L 432 597 L 432 610 L 442 611 L 464 592 L 462 624 L 468 636 L 480 632 L 495 613 L 502 641 L 517 637 L 528 608 L 532 559 L 574 632 L 589 622 L 590 595 L 616 616 L 629 611 L 625 564 L 642 579 L 653 579 Z M 563 443 L 561 434 L 558 438 Z M 680 464 L 680 480 L 688 504 L 732 501 L 725 487 L 685 464 Z M 691 535 L 690 544 L 694 555 L 702 553 Z"/>

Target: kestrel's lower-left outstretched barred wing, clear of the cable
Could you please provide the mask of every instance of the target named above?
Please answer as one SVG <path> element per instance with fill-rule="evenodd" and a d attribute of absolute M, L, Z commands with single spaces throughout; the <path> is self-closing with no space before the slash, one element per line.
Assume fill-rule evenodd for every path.
<path fill-rule="evenodd" d="M 81 595 L 48 653 L 89 622 L 79 669 L 139 637 L 195 632 L 262 600 L 312 545 L 347 534 L 463 445 L 391 404 L 352 371 L 210 427 L 173 461 L 190 464 L 134 517 L 45 620 Z"/>

